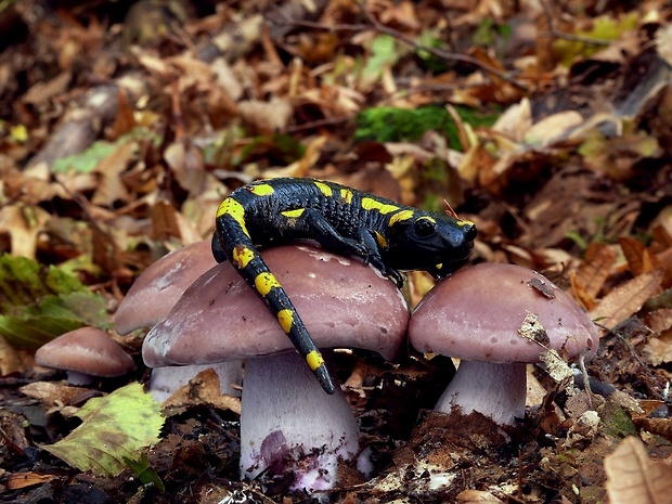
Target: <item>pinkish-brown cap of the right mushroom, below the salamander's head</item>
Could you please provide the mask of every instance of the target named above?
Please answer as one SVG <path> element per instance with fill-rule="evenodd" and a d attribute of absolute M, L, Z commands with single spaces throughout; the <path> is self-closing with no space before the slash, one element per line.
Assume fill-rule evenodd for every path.
<path fill-rule="evenodd" d="M 422 352 L 533 363 L 546 348 L 519 333 L 530 314 L 545 329 L 535 334 L 546 348 L 569 359 L 597 351 L 599 333 L 587 314 L 550 280 L 513 264 L 478 264 L 439 282 L 413 312 L 409 337 Z"/>

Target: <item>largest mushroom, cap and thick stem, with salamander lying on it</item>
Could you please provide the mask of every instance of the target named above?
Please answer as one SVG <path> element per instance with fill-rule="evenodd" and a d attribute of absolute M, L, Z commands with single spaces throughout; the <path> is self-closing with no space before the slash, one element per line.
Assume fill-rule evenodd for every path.
<path fill-rule="evenodd" d="M 309 245 L 262 253 L 315 344 L 362 348 L 391 359 L 409 310 L 392 282 L 357 259 Z M 295 475 L 290 487 L 326 490 L 339 458 L 359 448 L 357 419 L 341 390 L 324 393 L 263 301 L 222 263 L 186 289 L 143 344 L 150 366 L 246 359 L 241 474 Z"/>

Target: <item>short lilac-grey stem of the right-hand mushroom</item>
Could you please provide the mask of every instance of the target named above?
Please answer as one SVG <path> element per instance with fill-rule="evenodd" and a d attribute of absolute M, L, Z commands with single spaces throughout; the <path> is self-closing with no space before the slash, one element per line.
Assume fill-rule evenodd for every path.
<path fill-rule="evenodd" d="M 465 415 L 477 411 L 500 425 L 514 425 L 525 416 L 526 390 L 525 364 L 463 360 L 435 410 L 450 413 L 456 405 Z"/>

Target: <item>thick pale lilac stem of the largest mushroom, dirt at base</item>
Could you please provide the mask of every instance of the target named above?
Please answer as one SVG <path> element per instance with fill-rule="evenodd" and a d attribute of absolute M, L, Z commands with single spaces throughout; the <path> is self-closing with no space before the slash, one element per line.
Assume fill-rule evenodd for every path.
<path fill-rule="evenodd" d="M 294 473 L 292 489 L 328 490 L 338 460 L 350 460 L 358 451 L 357 418 L 343 391 L 324 393 L 295 352 L 247 359 L 242 404 L 244 478 L 267 469 Z"/>

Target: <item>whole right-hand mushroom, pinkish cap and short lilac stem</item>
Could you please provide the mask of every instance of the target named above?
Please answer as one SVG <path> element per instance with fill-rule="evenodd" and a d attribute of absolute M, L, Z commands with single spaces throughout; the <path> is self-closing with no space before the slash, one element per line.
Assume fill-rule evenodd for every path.
<path fill-rule="evenodd" d="M 543 328 L 533 341 L 524 324 Z M 545 334 L 544 334 L 545 333 Z M 599 333 L 581 308 L 535 271 L 513 264 L 478 264 L 438 283 L 409 323 L 413 347 L 461 359 L 435 410 L 478 411 L 497 424 L 525 415 L 526 364 L 547 349 L 567 359 L 592 358 Z M 543 344 L 542 345 L 540 345 Z"/>

